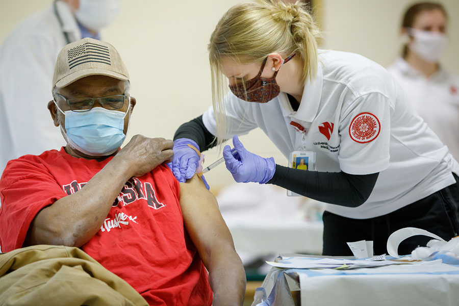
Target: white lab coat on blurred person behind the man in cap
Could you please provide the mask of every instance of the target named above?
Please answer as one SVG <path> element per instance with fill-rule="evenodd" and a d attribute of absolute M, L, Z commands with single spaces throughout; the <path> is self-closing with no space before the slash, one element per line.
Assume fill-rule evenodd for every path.
<path fill-rule="evenodd" d="M 81 38 L 70 7 L 61 1 L 23 20 L 0 46 L 0 174 L 7 162 L 65 145 L 46 108 L 59 51 Z"/>

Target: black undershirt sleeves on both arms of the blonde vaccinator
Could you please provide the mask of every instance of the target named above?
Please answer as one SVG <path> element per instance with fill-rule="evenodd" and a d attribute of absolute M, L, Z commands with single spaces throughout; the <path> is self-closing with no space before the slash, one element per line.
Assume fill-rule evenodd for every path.
<path fill-rule="evenodd" d="M 202 121 L 202 115 L 182 124 L 175 132 L 174 140 L 194 140 L 201 151 L 217 144 Z M 319 172 L 292 169 L 276 165 L 276 171 L 267 184 L 274 184 L 319 201 L 357 207 L 362 205 L 373 191 L 379 173 L 355 175 L 345 172 Z"/>

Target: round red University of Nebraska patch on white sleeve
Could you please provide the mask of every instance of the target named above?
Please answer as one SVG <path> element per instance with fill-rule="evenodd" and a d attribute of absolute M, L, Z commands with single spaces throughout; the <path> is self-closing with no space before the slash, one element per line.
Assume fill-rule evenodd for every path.
<path fill-rule="evenodd" d="M 371 113 L 361 113 L 352 119 L 349 136 L 353 141 L 366 143 L 378 137 L 381 130 L 378 118 Z"/>

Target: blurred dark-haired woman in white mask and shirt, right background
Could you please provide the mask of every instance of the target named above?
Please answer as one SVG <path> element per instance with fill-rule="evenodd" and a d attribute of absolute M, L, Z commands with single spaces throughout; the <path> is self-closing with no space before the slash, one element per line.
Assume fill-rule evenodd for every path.
<path fill-rule="evenodd" d="M 439 63 L 447 43 L 447 20 L 439 3 L 422 2 L 408 8 L 401 24 L 401 34 L 408 42 L 388 70 L 417 113 L 459 160 L 459 77 Z"/>

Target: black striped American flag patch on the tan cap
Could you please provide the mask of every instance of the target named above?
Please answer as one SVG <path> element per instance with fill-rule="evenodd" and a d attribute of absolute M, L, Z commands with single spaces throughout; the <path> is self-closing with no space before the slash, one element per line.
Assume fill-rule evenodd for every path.
<path fill-rule="evenodd" d="M 111 65 L 109 48 L 87 42 L 67 51 L 69 69 L 85 63 L 103 63 Z"/>

